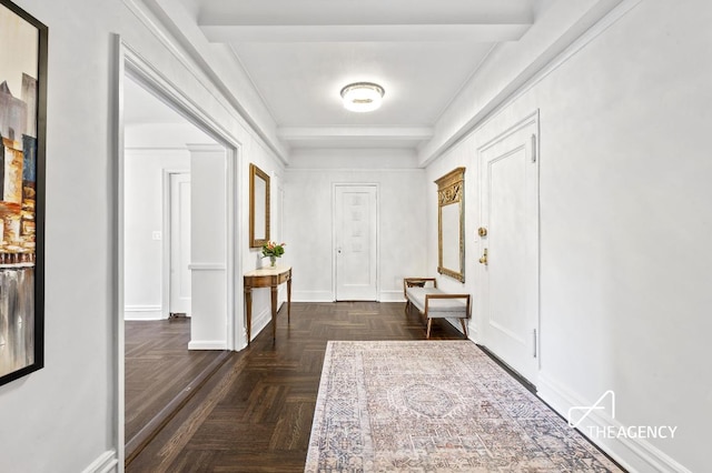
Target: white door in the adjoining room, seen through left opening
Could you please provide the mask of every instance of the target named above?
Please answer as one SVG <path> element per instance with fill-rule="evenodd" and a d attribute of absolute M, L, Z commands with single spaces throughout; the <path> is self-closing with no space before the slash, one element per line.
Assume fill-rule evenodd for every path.
<path fill-rule="evenodd" d="M 190 174 L 170 174 L 169 312 L 190 315 Z"/>

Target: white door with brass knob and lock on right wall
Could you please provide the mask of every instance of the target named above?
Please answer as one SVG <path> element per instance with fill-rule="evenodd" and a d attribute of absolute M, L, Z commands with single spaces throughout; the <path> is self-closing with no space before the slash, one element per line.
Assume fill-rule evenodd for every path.
<path fill-rule="evenodd" d="M 537 130 L 533 117 L 479 150 L 482 343 L 532 383 L 538 366 Z"/>

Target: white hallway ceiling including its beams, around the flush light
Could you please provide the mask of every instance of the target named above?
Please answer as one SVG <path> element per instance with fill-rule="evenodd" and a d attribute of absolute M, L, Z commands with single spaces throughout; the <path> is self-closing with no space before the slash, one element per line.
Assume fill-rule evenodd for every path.
<path fill-rule="evenodd" d="M 543 3 L 181 1 L 209 42 L 234 52 L 287 147 L 413 150 L 493 48 L 518 40 Z M 356 81 L 383 85 L 379 110 L 342 107 L 340 89 Z"/>

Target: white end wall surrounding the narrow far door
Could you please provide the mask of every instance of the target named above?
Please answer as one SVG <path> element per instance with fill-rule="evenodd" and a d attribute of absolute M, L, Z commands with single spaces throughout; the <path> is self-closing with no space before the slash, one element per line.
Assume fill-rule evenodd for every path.
<path fill-rule="evenodd" d="M 353 151 L 329 151 L 339 164 Z M 436 266 L 425 264 L 425 205 L 424 171 L 393 167 L 397 150 L 369 151 L 380 155 L 384 169 L 356 169 L 358 157 L 350 159 L 346 169 L 330 168 L 330 158 L 317 151 L 315 157 L 293 159 L 285 174 L 285 260 L 294 266 L 293 298 L 297 301 L 333 301 L 333 184 L 378 184 L 378 263 L 379 300 L 402 301 L 403 278 L 426 275 Z M 322 168 L 298 169 L 304 159 L 308 165 Z M 385 163 L 385 164 L 384 164 Z M 388 164 L 390 163 L 390 164 Z M 390 168 L 390 169 L 388 169 Z"/>

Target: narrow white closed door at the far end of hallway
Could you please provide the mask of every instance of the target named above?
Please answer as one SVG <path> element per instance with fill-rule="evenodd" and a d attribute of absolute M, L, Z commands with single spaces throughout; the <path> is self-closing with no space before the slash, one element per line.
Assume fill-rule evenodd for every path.
<path fill-rule="evenodd" d="M 337 301 L 378 299 L 376 199 L 376 185 L 335 185 L 334 240 Z"/>

